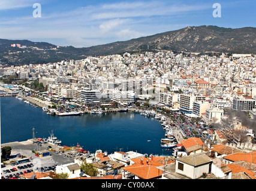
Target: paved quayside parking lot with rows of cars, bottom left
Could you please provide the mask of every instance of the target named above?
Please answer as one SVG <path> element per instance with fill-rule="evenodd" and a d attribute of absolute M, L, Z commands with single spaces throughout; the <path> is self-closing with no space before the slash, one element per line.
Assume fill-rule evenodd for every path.
<path fill-rule="evenodd" d="M 17 153 L 17 157 L 9 159 L 6 161 L 5 167 L 1 168 L 1 178 L 11 178 L 16 179 L 19 178 L 20 174 L 26 174 L 32 171 L 41 171 L 47 172 L 55 169 L 56 165 L 68 164 L 70 162 L 74 162 L 74 157 L 76 156 L 76 152 L 65 152 L 62 153 L 60 151 L 60 147 L 49 144 L 42 143 L 37 144 L 33 143 L 33 141 L 22 141 L 22 142 L 13 142 L 13 143 L 5 143 L 1 144 L 2 147 L 10 146 L 11 153 Z M 52 147 L 49 150 L 49 146 Z M 47 148 L 47 149 L 46 149 Z M 54 150 L 53 150 L 54 149 Z M 34 150 L 35 152 L 32 152 Z M 47 150 L 50 155 L 48 156 L 36 156 L 37 151 Z M 19 163 L 19 160 L 22 155 L 23 158 L 29 159 L 28 162 Z M 17 174 L 18 173 L 18 174 Z"/>

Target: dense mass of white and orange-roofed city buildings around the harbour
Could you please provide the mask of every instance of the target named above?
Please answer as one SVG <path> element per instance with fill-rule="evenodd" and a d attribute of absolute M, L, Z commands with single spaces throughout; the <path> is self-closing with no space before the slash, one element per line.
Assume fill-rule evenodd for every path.
<path fill-rule="evenodd" d="M 97 169 L 95 177 L 116 173 L 123 179 L 186 179 L 211 174 L 230 179 L 238 176 L 236 168 L 242 163 L 236 161 L 237 156 L 256 165 L 245 160 L 245 156 L 254 157 L 256 150 L 255 68 L 252 54 L 209 56 L 162 51 L 1 65 L 0 76 L 7 80 L 15 75 L 16 81 L 10 84 L 18 90 L 55 104 L 65 99 L 70 107 L 101 113 L 110 107 L 132 107 L 145 116 L 151 110 L 164 128 L 176 132 L 178 143 L 171 159 L 132 151 L 87 153 L 76 159 L 79 162 L 56 167 L 70 178 L 79 177 L 80 165 L 87 161 Z M 35 91 L 35 81 L 43 89 Z M 55 104 L 48 109 L 63 107 Z M 200 162 L 189 162 L 193 160 Z M 255 178 L 253 169 L 244 170 L 249 173 L 246 178 Z"/>

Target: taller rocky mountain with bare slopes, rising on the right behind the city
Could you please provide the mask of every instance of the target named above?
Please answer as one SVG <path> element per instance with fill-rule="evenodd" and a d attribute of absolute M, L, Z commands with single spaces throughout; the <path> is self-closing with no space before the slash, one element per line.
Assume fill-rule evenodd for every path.
<path fill-rule="evenodd" d="M 217 26 L 185 27 L 159 33 L 86 48 L 91 54 L 115 54 L 136 51 L 171 50 L 192 53 L 251 53 L 256 54 L 256 28 L 230 29 Z"/>

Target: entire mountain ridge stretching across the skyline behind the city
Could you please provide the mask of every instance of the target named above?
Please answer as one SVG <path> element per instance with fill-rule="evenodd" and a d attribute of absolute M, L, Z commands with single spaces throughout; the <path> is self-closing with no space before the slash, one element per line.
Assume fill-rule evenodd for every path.
<path fill-rule="evenodd" d="M 26 48 L 11 47 L 21 44 Z M 47 42 L 0 39 L 0 61 L 7 64 L 49 63 L 78 60 L 86 56 L 170 50 L 185 53 L 256 54 L 256 28 L 231 29 L 218 26 L 191 26 L 129 41 L 86 48 L 57 47 Z"/>

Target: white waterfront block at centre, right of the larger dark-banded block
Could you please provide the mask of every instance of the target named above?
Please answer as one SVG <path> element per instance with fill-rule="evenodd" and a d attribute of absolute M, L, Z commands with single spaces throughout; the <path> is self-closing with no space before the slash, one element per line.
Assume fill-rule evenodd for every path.
<path fill-rule="evenodd" d="M 113 101 L 117 103 L 134 103 L 134 91 L 113 91 Z"/>

